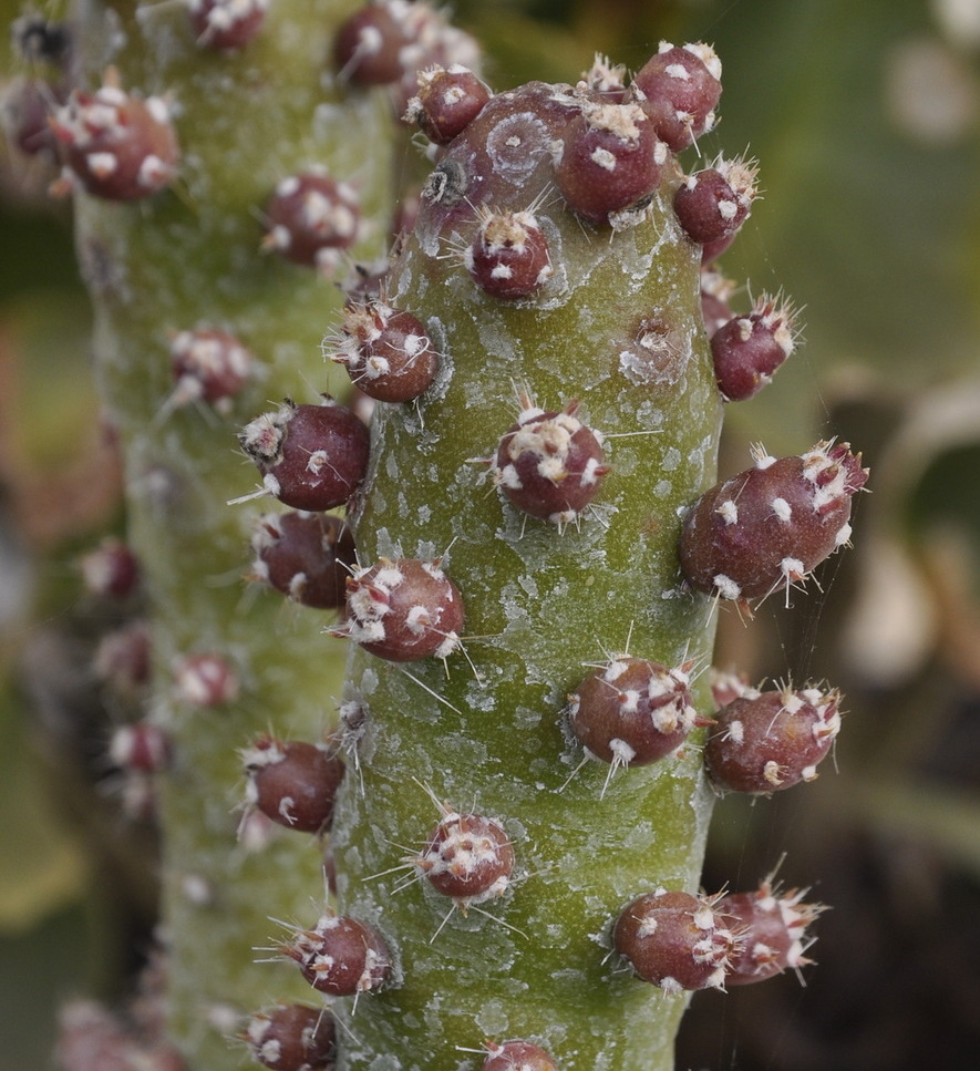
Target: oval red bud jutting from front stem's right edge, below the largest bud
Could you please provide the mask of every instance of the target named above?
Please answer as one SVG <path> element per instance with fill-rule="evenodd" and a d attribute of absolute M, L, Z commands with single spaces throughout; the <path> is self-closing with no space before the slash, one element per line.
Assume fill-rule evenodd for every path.
<path fill-rule="evenodd" d="M 722 792 L 775 792 L 813 781 L 840 729 L 840 693 L 816 688 L 756 692 L 726 703 L 704 745 Z"/>

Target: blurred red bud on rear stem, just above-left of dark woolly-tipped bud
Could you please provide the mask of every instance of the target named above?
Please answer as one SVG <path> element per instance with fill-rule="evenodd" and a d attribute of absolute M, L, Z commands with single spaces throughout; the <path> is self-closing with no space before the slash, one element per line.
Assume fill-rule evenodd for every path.
<path fill-rule="evenodd" d="M 171 340 L 173 401 L 186 405 L 199 399 L 225 411 L 251 375 L 252 363 L 251 353 L 227 331 L 178 331 Z"/>

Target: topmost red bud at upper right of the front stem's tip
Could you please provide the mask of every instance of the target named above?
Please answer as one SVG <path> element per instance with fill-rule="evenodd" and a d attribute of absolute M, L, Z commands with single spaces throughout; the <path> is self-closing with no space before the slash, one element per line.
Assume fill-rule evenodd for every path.
<path fill-rule="evenodd" d="M 721 97 L 721 62 L 703 43 L 675 48 L 660 42 L 657 55 L 637 72 L 630 86 L 657 135 L 679 153 L 714 126 Z"/>

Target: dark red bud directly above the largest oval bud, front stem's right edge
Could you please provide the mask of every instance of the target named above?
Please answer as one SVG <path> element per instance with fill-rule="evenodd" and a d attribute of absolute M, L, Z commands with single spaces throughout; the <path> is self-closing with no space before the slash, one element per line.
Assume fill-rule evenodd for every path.
<path fill-rule="evenodd" d="M 757 394 L 793 352 L 795 313 L 763 295 L 749 316 L 732 317 L 714 332 L 711 357 L 722 394 L 732 402 Z"/>

